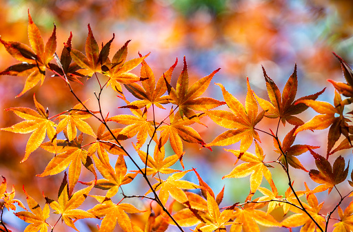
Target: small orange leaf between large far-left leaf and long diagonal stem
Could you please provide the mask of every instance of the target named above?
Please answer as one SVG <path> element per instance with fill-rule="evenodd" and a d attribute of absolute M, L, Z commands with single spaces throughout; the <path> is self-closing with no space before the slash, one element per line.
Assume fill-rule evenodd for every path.
<path fill-rule="evenodd" d="M 81 110 L 85 102 L 86 101 L 84 101 L 82 104 L 79 103 L 72 107 L 68 115 L 61 115 L 58 117 L 60 122 L 57 125 L 57 134 L 65 129 L 66 134 L 68 135 L 68 140 L 72 141 L 74 138 L 76 138 L 77 129 L 79 129 L 81 132 L 97 138 L 92 127 L 90 127 L 90 125 L 84 121 L 85 119 L 88 119 L 92 116 L 90 112 Z"/>

